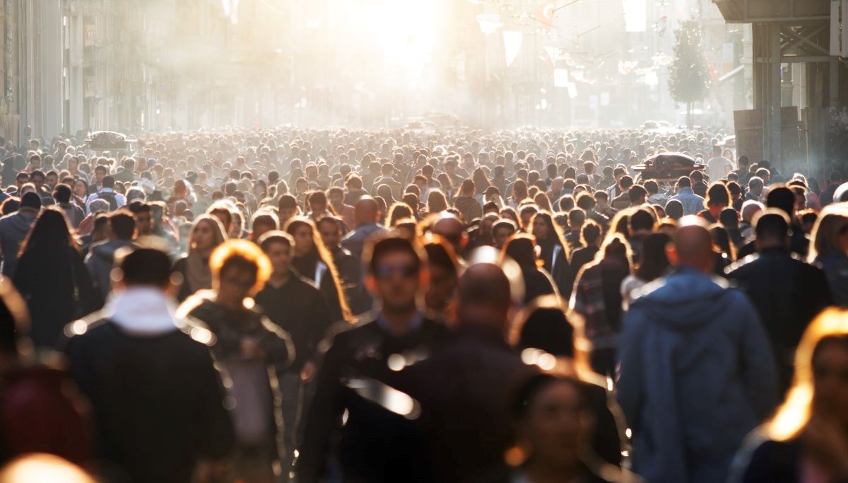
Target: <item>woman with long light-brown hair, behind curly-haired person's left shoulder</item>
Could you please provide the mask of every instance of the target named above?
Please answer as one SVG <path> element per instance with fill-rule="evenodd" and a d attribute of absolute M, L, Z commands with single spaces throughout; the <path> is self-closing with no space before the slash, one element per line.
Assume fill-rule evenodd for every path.
<path fill-rule="evenodd" d="M 182 275 L 182 285 L 176 297 L 179 301 L 186 300 L 198 290 L 212 288 L 209 256 L 226 241 L 227 236 L 216 216 L 201 215 L 192 224 L 188 238 L 188 254 L 174 264 L 174 272 Z"/>

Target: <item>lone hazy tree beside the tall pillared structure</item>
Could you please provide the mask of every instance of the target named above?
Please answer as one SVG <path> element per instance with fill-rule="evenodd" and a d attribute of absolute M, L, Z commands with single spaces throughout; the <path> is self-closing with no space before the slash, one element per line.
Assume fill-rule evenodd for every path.
<path fill-rule="evenodd" d="M 683 21 L 674 31 L 674 61 L 669 67 L 668 90 L 675 102 L 686 104 L 689 129 L 695 124 L 695 102 L 706 97 L 709 82 L 700 24 L 695 20 Z"/>

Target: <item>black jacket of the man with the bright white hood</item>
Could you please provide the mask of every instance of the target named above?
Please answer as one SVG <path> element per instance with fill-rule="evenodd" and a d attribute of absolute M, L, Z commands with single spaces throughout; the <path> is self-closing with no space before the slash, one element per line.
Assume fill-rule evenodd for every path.
<path fill-rule="evenodd" d="M 91 402 L 109 481 L 188 481 L 199 459 L 229 454 L 232 423 L 220 375 L 189 326 L 139 336 L 109 320 L 83 322 L 87 329 L 68 340 L 65 353 Z"/>

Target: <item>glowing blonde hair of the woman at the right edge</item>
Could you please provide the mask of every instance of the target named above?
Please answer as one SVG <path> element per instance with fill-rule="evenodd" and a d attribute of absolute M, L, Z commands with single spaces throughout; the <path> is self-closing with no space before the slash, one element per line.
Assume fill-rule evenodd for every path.
<path fill-rule="evenodd" d="M 774 417 L 766 423 L 768 437 L 787 441 L 801 434 L 812 416 L 815 388 L 812 357 L 823 340 L 848 338 L 848 310 L 828 308 L 806 328 L 795 351 L 795 376 L 792 388 Z"/>

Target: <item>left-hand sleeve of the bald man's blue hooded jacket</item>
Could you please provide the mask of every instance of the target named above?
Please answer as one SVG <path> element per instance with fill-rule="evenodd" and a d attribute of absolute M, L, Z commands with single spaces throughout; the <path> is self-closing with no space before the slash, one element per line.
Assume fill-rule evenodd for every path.
<path fill-rule="evenodd" d="M 621 345 L 618 353 L 618 404 L 622 407 L 628 425 L 634 431 L 639 424 L 639 413 L 643 404 L 644 316 L 639 306 L 631 306 L 624 318 Z"/>

